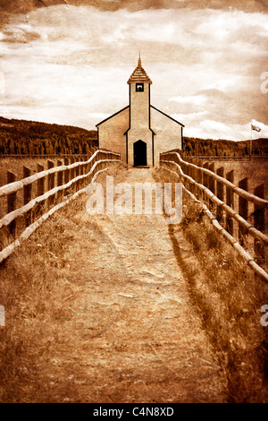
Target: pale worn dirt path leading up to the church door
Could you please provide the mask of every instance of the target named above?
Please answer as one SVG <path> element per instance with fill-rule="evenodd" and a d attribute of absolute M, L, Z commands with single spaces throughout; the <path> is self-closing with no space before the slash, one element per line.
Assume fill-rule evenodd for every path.
<path fill-rule="evenodd" d="M 120 181 L 131 185 L 154 182 L 148 169 L 124 174 Z M 75 223 L 76 245 L 66 253 L 76 296 L 70 346 L 79 345 L 69 349 L 69 366 L 79 365 L 76 382 L 87 401 L 224 401 L 221 370 L 164 217 L 89 217 L 83 209 Z M 56 364 L 66 364 L 63 352 Z"/>

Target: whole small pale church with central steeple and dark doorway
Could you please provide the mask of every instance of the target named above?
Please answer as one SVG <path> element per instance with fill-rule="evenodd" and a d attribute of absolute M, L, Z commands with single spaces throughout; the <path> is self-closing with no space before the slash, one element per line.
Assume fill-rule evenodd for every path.
<path fill-rule="evenodd" d="M 128 83 L 130 105 L 96 125 L 98 146 L 120 152 L 130 166 L 158 166 L 161 152 L 182 149 L 184 125 L 151 105 L 152 81 L 140 57 Z"/>

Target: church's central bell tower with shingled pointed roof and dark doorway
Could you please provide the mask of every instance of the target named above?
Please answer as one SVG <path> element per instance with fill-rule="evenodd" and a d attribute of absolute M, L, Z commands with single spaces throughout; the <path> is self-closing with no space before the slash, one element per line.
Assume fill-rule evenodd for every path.
<path fill-rule="evenodd" d="M 127 136 L 128 163 L 134 166 L 154 165 L 154 133 L 150 127 L 150 85 L 152 81 L 141 65 L 128 81 L 130 85 L 130 128 Z"/>

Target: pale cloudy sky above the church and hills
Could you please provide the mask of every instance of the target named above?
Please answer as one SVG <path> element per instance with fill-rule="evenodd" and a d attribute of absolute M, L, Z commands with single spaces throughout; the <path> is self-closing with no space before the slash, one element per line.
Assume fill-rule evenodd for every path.
<path fill-rule="evenodd" d="M 95 129 L 128 105 L 140 51 L 184 135 L 249 139 L 253 120 L 268 137 L 266 0 L 0 0 L 0 16 L 0 116 Z"/>

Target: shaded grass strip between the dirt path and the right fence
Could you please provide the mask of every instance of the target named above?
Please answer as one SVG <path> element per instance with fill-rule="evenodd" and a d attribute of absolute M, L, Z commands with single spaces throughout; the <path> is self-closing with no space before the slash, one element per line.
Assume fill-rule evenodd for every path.
<path fill-rule="evenodd" d="M 179 181 L 162 168 L 155 170 L 155 179 Z M 189 295 L 228 378 L 229 401 L 267 401 L 268 327 L 260 322 L 261 306 L 268 303 L 267 285 L 217 234 L 187 193 L 182 221 L 169 229 Z"/>

